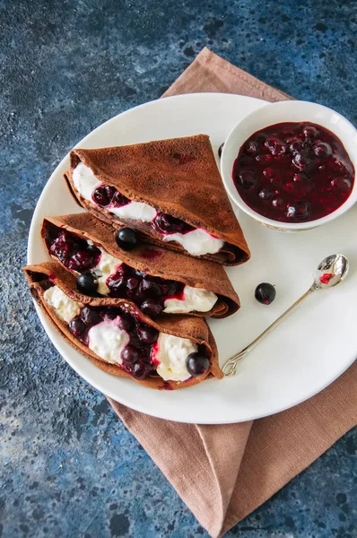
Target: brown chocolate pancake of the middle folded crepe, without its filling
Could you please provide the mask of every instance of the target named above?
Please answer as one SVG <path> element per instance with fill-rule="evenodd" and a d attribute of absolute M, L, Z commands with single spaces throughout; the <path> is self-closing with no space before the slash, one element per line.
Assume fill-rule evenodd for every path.
<path fill-rule="evenodd" d="M 41 236 L 48 249 L 48 254 L 48 237 L 50 237 L 53 226 L 72 231 L 82 239 L 91 239 L 97 247 L 104 248 L 109 254 L 138 271 L 166 280 L 183 282 L 193 288 L 213 291 L 218 296 L 217 302 L 208 312 L 192 312 L 187 313 L 186 316 L 227 317 L 239 309 L 239 297 L 233 290 L 222 265 L 213 264 L 208 260 L 181 256 L 179 252 L 166 250 L 159 246 L 151 247 L 147 244 L 141 244 L 135 250 L 126 252 L 117 245 L 116 230 L 95 219 L 90 213 L 45 217 Z M 52 257 L 58 262 L 57 257 Z M 78 275 L 75 271 L 73 273 Z"/>

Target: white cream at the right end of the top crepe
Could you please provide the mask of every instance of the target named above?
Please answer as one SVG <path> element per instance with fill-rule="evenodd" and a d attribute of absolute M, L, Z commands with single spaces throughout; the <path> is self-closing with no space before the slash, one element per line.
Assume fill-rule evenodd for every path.
<path fill-rule="evenodd" d="M 177 241 L 192 256 L 215 254 L 222 248 L 223 239 L 214 238 L 203 228 L 188 231 L 187 233 L 169 233 L 162 236 L 163 241 Z"/>

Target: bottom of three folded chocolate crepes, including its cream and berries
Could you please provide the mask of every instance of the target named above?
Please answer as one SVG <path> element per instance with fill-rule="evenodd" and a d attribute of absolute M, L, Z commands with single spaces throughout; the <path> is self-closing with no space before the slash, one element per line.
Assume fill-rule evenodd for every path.
<path fill-rule="evenodd" d="M 57 262 L 23 269 L 42 312 L 65 341 L 98 368 L 157 389 L 222 378 L 218 352 L 205 320 L 161 316 L 155 321 L 126 299 L 91 298 L 75 289 L 73 274 Z M 205 366 L 190 376 L 186 359 L 196 353 Z M 202 375 L 200 375 L 202 373 Z"/>

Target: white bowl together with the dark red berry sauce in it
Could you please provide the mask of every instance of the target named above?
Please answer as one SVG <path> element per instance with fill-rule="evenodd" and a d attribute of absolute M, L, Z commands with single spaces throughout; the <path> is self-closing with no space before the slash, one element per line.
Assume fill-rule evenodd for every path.
<path fill-rule="evenodd" d="M 231 199 L 275 230 L 334 220 L 357 200 L 357 130 L 315 103 L 281 101 L 245 117 L 223 146 L 221 171 Z"/>

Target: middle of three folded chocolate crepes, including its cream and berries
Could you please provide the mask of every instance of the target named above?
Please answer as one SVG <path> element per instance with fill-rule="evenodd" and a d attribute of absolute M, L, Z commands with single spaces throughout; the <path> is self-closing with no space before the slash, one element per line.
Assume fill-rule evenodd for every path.
<path fill-rule="evenodd" d="M 75 276 L 88 271 L 94 275 L 96 294 L 133 300 L 151 317 L 162 309 L 227 317 L 239 308 L 222 265 L 147 243 L 126 252 L 117 245 L 116 230 L 90 213 L 45 217 L 41 236 L 49 256 Z"/>

